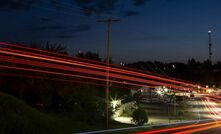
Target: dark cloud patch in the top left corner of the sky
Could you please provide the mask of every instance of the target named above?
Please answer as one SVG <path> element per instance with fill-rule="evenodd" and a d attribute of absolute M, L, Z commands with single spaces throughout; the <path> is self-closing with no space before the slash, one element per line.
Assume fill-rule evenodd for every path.
<path fill-rule="evenodd" d="M 37 0 L 1 0 L 0 11 L 29 9 Z"/>

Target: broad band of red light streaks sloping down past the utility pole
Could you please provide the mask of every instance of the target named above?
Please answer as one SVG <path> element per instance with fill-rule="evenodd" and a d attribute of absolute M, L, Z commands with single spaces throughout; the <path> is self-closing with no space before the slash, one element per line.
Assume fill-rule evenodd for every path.
<path fill-rule="evenodd" d="M 71 57 L 52 52 L 47 52 L 44 50 L 38 50 L 24 46 L 8 44 L 8 43 L 0 43 L 0 44 L 2 46 L 5 46 L 5 47 L 0 47 L 0 53 L 2 54 L 0 61 L 8 63 L 16 63 L 19 65 L 38 66 L 42 69 L 48 68 L 48 69 L 56 69 L 59 71 L 63 71 L 63 72 L 53 72 L 56 75 L 70 76 L 67 75 L 67 71 L 71 71 L 72 73 L 74 72 L 81 73 L 82 77 L 92 80 L 101 80 L 101 78 L 99 77 L 106 76 L 105 72 L 107 67 L 104 65 L 96 65 L 92 63 L 70 60 Z M 19 50 L 15 50 L 13 47 L 19 48 Z M 26 52 L 24 50 L 26 51 L 30 50 L 30 51 Z M 44 53 L 51 54 L 54 56 L 45 55 Z M 61 56 L 63 58 L 61 58 Z M 4 68 L 6 68 L 6 66 Z M 7 68 L 12 69 L 12 67 L 7 67 Z M 49 73 L 44 71 L 44 69 L 42 70 L 42 72 Z M 23 71 L 25 70 L 34 71 L 30 70 L 30 68 L 27 69 L 23 68 Z M 196 87 L 198 87 L 198 85 L 177 81 L 176 79 L 168 79 L 159 76 L 139 73 L 135 71 L 129 71 L 126 69 L 119 69 L 116 67 L 109 67 L 109 70 L 110 70 L 110 77 L 118 79 L 118 81 L 113 81 L 115 83 L 128 84 L 134 86 L 144 86 L 144 87 L 148 87 L 150 85 L 167 86 L 170 88 L 175 88 L 176 90 L 186 90 L 186 89 L 194 90 Z M 93 75 L 93 77 L 84 76 L 85 74 Z M 104 81 L 104 79 L 102 79 L 102 81 Z M 125 81 L 125 82 L 120 82 L 120 81 Z"/>

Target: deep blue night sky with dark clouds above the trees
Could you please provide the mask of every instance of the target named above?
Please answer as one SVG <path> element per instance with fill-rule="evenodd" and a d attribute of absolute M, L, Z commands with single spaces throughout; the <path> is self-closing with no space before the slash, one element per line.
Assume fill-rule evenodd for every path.
<path fill-rule="evenodd" d="M 121 20 L 112 25 L 111 33 L 111 57 L 116 63 L 204 61 L 209 29 L 212 59 L 221 60 L 220 0 L 76 1 L 81 0 L 1 0 L 0 41 L 49 41 L 67 46 L 70 54 L 90 50 L 104 57 L 106 24 L 96 20 L 111 16 Z"/>

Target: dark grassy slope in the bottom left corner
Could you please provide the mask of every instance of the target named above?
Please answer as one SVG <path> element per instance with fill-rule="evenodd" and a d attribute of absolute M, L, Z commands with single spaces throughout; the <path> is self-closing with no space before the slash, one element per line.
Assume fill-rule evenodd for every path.
<path fill-rule="evenodd" d="M 79 124 L 39 112 L 25 102 L 0 92 L 1 134 L 61 134 L 88 128 L 86 124 Z"/>

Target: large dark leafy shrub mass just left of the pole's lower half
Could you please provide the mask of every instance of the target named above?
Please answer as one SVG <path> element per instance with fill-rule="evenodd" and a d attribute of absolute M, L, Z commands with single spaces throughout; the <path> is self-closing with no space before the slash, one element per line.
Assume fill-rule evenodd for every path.
<path fill-rule="evenodd" d="M 104 98 L 99 95 L 99 91 L 99 87 L 68 85 L 60 92 L 61 114 L 88 124 L 103 122 L 106 116 L 106 103 Z M 112 109 L 109 109 L 109 116 L 112 114 Z"/>

